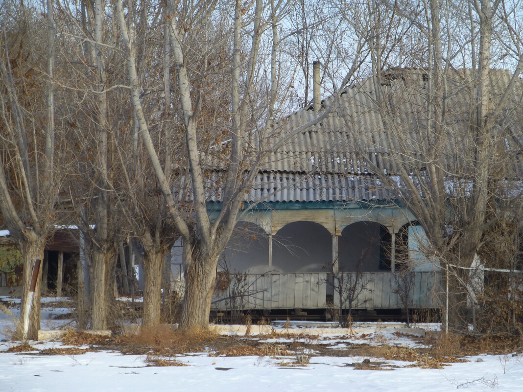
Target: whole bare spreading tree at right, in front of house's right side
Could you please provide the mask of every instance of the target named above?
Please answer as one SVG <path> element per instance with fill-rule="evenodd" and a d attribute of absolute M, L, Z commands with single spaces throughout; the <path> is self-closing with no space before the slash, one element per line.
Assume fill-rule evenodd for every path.
<path fill-rule="evenodd" d="M 458 330 L 465 327 L 468 268 L 483 234 L 517 200 L 496 184 L 521 174 L 515 151 L 521 148 L 516 124 L 523 57 L 521 39 L 505 16 L 515 10 L 506 6 L 488 0 L 407 3 L 404 11 L 393 3 L 374 5 L 374 76 L 349 89 L 352 102 L 338 105 L 356 135 L 349 143 L 364 162 L 358 170 L 378 176 L 413 212 L 430 240 L 429 255 L 449 272 L 448 312 Z M 385 20 L 392 15 L 424 37 L 418 50 L 388 41 Z M 464 20 L 470 30 L 462 28 Z M 395 51 L 385 55 L 383 48 L 391 47 Z M 499 51 L 512 56 L 511 71 L 491 69 Z M 397 67 L 405 56 L 415 69 Z M 355 117 L 374 128 L 358 128 Z"/>

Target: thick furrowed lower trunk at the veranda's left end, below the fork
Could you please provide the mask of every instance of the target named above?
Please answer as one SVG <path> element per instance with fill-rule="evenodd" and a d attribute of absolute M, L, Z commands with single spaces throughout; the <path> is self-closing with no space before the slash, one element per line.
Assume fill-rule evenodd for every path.
<path fill-rule="evenodd" d="M 209 328 L 217 265 L 218 256 L 201 255 L 197 250 L 191 254 L 184 247 L 185 295 L 180 329 Z"/>

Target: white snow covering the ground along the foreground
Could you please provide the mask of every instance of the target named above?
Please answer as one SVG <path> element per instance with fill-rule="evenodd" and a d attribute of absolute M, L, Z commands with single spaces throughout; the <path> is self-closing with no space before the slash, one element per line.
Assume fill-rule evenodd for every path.
<path fill-rule="evenodd" d="M 2 298 L 5 300 L 5 298 Z M 49 300 L 48 300 L 49 301 Z M 46 308 L 42 303 L 42 324 L 67 308 Z M 63 310 L 61 310 L 63 309 Z M 16 309 L 14 314 L 17 315 Z M 64 320 L 59 320 L 64 322 Z M 424 391 L 447 392 L 523 390 L 523 355 L 481 355 L 469 362 L 453 363 L 443 369 L 399 367 L 390 371 L 356 370 L 348 364 L 362 357 L 312 356 L 306 367 L 280 366 L 282 358 L 260 356 L 213 357 L 209 352 L 191 353 L 176 359 L 189 366 L 147 366 L 145 356 L 119 352 L 87 352 L 78 355 L 7 353 L 19 344 L 5 340 L 1 331 L 12 328 L 10 318 L 0 312 L 0 392 L 52 391 Z M 386 340 L 391 345 L 416 345 L 408 338 L 377 335 L 367 343 Z M 275 341 L 270 339 L 270 341 Z M 285 339 L 277 339 L 279 342 Z M 288 340 L 287 340 L 288 341 Z M 334 347 L 345 348 L 361 339 L 334 339 Z M 57 342 L 31 342 L 38 350 L 56 348 Z M 291 359 L 287 359 L 291 360 Z M 373 359 L 376 361 L 376 359 Z M 384 361 L 390 365 L 408 362 Z"/>

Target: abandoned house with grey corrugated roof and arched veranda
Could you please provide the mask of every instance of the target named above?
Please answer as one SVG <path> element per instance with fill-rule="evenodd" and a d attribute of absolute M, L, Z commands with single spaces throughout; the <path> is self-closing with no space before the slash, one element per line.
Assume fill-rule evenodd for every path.
<path fill-rule="evenodd" d="M 469 71 L 454 76 L 449 94 L 459 108 L 467 101 L 461 95 L 463 80 L 473 78 Z M 491 72 L 494 86 L 506 85 L 510 77 L 506 71 Z M 461 84 L 453 87 L 453 82 Z M 212 309 L 317 314 L 341 302 L 367 314 L 393 314 L 441 306 L 442 270 L 437 259 L 424 256 L 423 228 L 366 163 L 397 172 L 386 159 L 394 138 L 385 135 L 373 90 L 379 86 L 389 97 L 407 89 L 416 95 L 426 83 L 422 71 L 391 70 L 378 84 L 364 79 L 346 87 L 339 99 L 316 101 L 274 124 L 286 141 L 267 154 L 245 198 L 248 209 L 221 256 Z M 322 121 L 303 126 L 329 106 Z M 399 106 L 397 116 L 416 141 L 423 132 L 413 108 Z M 450 132 L 467 126 L 463 110 L 454 113 Z M 353 148 L 361 144 L 367 156 Z M 220 207 L 219 197 L 211 197 L 209 213 Z M 180 243 L 172 263 L 175 279 L 183 279 Z"/>

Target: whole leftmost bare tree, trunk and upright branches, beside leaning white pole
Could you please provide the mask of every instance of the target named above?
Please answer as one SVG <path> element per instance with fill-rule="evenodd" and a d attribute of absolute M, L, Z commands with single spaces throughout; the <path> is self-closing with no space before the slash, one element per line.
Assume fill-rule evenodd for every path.
<path fill-rule="evenodd" d="M 55 148 L 60 142 L 54 122 L 54 9 L 52 2 L 47 2 L 42 24 L 34 9 L 11 2 L 4 5 L 0 38 L 0 210 L 24 260 L 19 335 L 34 339 L 40 328 L 39 260 L 53 228 L 61 182 Z M 41 48 L 47 53 L 40 52 Z M 42 112 L 46 114 L 42 116 Z"/>

